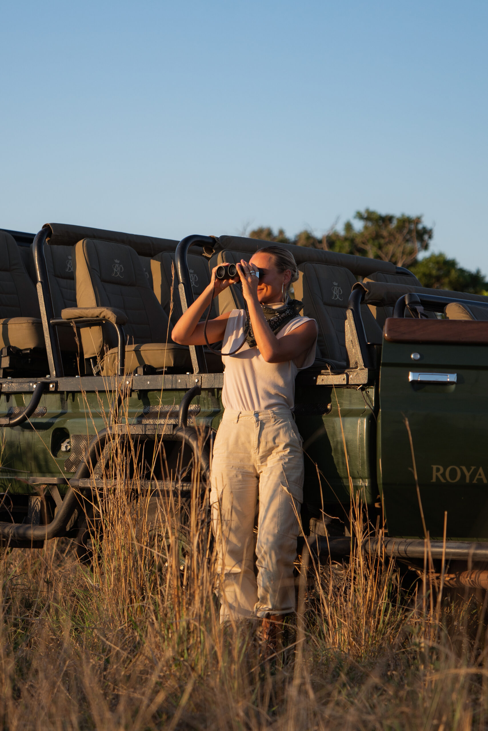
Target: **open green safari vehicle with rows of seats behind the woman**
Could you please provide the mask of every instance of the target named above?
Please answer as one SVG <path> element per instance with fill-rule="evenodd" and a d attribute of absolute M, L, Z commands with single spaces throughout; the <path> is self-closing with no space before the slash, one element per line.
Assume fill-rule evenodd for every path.
<path fill-rule="evenodd" d="M 0 537 L 40 547 L 68 536 L 83 553 L 101 485 L 130 490 L 137 472 L 143 491 L 189 499 L 196 477 L 208 483 L 222 362 L 170 332 L 217 263 L 266 242 L 62 224 L 31 238 L 0 231 Z M 488 586 L 488 297 L 425 289 L 390 262 L 284 246 L 299 265 L 293 296 L 319 331 L 296 380 L 309 545 L 347 553 L 359 496 L 373 525 L 386 520 L 381 550 L 413 565 L 428 550 L 432 566 L 457 567 L 454 583 Z M 242 306 L 233 285 L 211 308 Z M 125 475 L 110 472 L 115 437 L 135 445 Z M 378 550 L 378 538 L 364 546 Z"/>

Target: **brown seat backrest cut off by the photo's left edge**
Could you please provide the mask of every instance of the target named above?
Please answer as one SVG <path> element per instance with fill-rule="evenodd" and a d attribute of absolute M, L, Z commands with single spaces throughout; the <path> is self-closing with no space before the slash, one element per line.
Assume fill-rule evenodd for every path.
<path fill-rule="evenodd" d="M 0 318 L 4 317 L 40 317 L 40 308 L 15 238 L 0 230 Z"/>

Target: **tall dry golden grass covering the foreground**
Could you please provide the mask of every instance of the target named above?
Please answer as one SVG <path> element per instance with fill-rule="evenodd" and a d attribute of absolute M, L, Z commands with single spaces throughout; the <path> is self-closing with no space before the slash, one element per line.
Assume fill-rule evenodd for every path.
<path fill-rule="evenodd" d="M 162 490 L 154 520 L 138 475 L 131 499 L 121 479 L 129 452 L 100 494 L 92 565 L 66 539 L 1 555 L 4 729 L 488 727 L 486 602 L 409 593 L 358 548 L 345 565 L 310 558 L 288 647 L 265 662 L 255 624 L 219 625 L 200 485 L 189 504 Z"/>

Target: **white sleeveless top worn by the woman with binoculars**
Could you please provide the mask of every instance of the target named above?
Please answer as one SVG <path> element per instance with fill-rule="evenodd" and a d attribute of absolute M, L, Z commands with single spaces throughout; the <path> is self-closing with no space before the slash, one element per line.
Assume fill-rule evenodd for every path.
<path fill-rule="evenodd" d="M 308 322 L 310 317 L 295 317 L 279 330 L 282 338 L 296 327 Z M 315 322 L 315 320 L 313 321 Z M 246 311 L 233 310 L 230 313 L 222 344 L 222 361 L 225 366 L 222 403 L 225 409 L 233 411 L 265 411 L 279 406 L 295 405 L 295 377 L 299 371 L 309 368 L 315 360 L 315 344 L 310 346 L 304 364 L 300 368 L 294 360 L 284 363 L 266 363 L 255 346 L 244 343 L 236 355 L 225 355 L 235 350 L 244 338 Z"/>

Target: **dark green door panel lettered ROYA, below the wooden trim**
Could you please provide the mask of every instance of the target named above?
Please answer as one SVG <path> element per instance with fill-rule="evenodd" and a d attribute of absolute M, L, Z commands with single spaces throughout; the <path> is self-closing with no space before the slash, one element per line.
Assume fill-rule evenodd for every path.
<path fill-rule="evenodd" d="M 413 367 L 411 354 L 421 359 Z M 426 524 L 443 539 L 488 539 L 488 346 L 383 345 L 378 418 L 378 484 L 388 532 L 422 536 L 408 418 Z M 413 370 L 457 375 L 452 384 L 413 384 Z"/>

